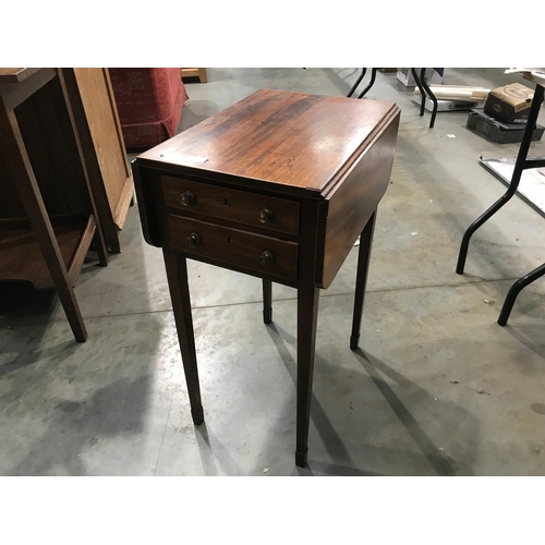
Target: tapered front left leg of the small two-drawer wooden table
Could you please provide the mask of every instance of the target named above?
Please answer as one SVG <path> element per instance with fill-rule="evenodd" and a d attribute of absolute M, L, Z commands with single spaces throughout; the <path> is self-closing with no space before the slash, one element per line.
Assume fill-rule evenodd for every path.
<path fill-rule="evenodd" d="M 174 311 L 174 322 L 182 352 L 183 372 L 187 384 L 191 415 L 193 422 L 199 425 L 204 422 L 201 386 L 198 384 L 197 354 L 195 351 L 195 335 L 191 316 L 190 286 L 187 283 L 186 259 L 181 254 L 164 250 L 165 266 Z"/>

